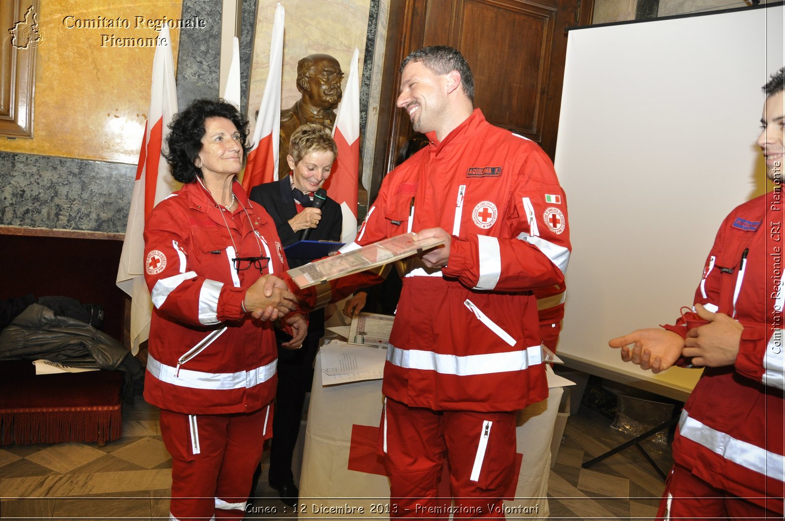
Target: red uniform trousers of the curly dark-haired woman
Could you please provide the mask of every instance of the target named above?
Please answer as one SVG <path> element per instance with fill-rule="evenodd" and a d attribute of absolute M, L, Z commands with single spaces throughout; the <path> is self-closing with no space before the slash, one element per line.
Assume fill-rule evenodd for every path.
<path fill-rule="evenodd" d="M 162 409 L 161 434 L 172 455 L 170 516 L 242 519 L 262 446 L 272 435 L 272 403 L 250 414 L 191 416 Z"/>

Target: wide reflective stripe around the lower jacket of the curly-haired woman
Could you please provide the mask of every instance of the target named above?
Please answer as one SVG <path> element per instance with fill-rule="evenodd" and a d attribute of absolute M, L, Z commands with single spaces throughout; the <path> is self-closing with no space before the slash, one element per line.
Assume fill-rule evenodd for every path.
<path fill-rule="evenodd" d="M 252 388 L 264 384 L 276 374 L 278 360 L 273 360 L 266 366 L 257 367 L 249 371 L 236 373 L 203 373 L 187 369 L 177 370 L 177 367 L 167 366 L 148 355 L 147 369 L 152 376 L 167 384 L 193 389 L 210 389 L 223 391 L 226 389 Z"/>

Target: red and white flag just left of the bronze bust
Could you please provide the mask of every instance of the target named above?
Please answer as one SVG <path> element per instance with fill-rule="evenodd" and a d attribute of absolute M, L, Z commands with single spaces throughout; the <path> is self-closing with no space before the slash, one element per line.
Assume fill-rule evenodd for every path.
<path fill-rule="evenodd" d="M 248 152 L 243 188 L 250 192 L 257 184 L 272 183 L 278 173 L 278 140 L 281 129 L 281 71 L 283 68 L 283 5 L 276 6 L 270 42 L 270 68 L 265 93 L 254 125 Z"/>

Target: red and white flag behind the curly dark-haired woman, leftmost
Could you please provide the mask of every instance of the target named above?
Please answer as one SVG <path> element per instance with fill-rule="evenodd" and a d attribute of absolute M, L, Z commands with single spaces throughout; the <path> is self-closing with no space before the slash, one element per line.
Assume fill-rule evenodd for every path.
<path fill-rule="evenodd" d="M 153 207 L 181 184 L 175 181 L 161 155 L 162 144 L 169 135 L 169 122 L 177 113 L 177 89 L 174 84 L 174 59 L 169 27 L 158 36 L 152 60 L 150 108 L 144 126 L 137 177 L 133 183 L 128 213 L 126 239 L 122 243 L 117 286 L 131 297 L 131 352 L 136 355 L 139 344 L 148 339 L 152 301 L 144 283 L 144 220 Z"/>

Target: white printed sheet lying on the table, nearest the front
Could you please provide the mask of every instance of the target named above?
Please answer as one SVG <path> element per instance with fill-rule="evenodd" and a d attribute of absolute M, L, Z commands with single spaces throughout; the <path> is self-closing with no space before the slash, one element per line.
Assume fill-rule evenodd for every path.
<path fill-rule="evenodd" d="M 322 386 L 379 380 L 387 352 L 334 340 L 322 346 Z"/>

